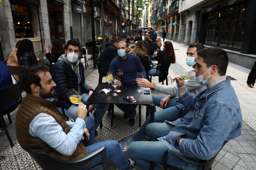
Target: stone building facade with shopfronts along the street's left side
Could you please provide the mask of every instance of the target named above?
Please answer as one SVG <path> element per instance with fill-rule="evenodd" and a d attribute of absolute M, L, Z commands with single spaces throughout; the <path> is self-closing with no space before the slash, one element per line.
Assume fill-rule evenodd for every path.
<path fill-rule="evenodd" d="M 92 38 L 92 22 L 95 35 L 102 33 L 101 17 L 104 17 L 105 33 L 118 32 L 119 1 L 94 1 L 94 19 L 91 18 L 89 0 L 4 0 L 0 2 L 0 58 L 7 60 L 17 41 L 29 39 L 33 42 L 37 58 L 41 58 L 44 44 L 63 37 L 66 41 L 77 38 L 82 46 Z M 124 4 L 124 1 L 122 1 Z M 125 9 L 122 8 L 122 24 Z M 124 30 L 123 28 L 123 30 Z M 123 32 L 122 30 L 122 32 Z M 103 35 L 104 36 L 104 35 Z"/>

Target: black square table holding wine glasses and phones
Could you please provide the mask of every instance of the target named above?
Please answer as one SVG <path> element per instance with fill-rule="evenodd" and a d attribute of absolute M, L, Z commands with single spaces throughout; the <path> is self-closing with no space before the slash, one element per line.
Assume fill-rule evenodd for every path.
<path fill-rule="evenodd" d="M 138 93 L 136 91 L 136 89 L 139 88 L 139 86 L 137 84 L 123 84 L 121 87 L 118 86 L 119 90 L 122 90 L 123 92 L 121 94 L 119 94 L 118 96 L 112 96 L 111 94 L 114 92 L 114 87 L 111 86 L 111 88 L 113 89 L 112 91 L 110 91 L 110 93 L 105 94 L 104 92 L 100 92 L 100 90 L 102 89 L 108 89 L 109 88 L 109 84 L 108 83 L 100 83 L 96 89 L 94 90 L 94 92 L 92 93 L 92 95 L 90 96 L 90 98 L 87 100 L 88 103 L 86 104 L 92 104 L 92 103 L 108 103 L 108 104 L 137 104 L 139 105 L 146 105 L 151 107 L 151 113 L 150 113 L 150 122 L 154 122 L 154 116 L 155 116 L 155 105 L 153 103 L 152 100 L 152 95 L 151 92 L 150 94 L 144 94 L 144 87 L 140 87 L 140 89 L 142 90 L 142 92 Z M 136 102 L 128 102 L 126 100 L 123 99 L 123 97 L 125 96 L 133 96 L 134 99 L 136 100 Z M 139 109 L 139 116 L 140 116 L 140 125 L 141 125 L 141 113 L 140 113 Z M 111 127 L 113 125 L 113 116 L 114 116 L 114 109 L 112 108 L 111 111 Z"/>

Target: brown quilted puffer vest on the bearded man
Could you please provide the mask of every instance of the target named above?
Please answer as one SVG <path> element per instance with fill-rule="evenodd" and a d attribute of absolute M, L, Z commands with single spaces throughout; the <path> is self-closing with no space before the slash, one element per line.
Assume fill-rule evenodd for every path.
<path fill-rule="evenodd" d="M 46 144 L 40 138 L 33 137 L 32 135 L 30 135 L 28 131 L 29 124 L 32 121 L 32 119 L 39 113 L 46 113 L 48 115 L 51 115 L 56 120 L 56 122 L 60 124 L 63 131 L 66 134 L 68 134 L 71 128 L 66 123 L 67 120 L 64 120 L 66 118 L 63 115 L 59 114 L 56 108 L 56 101 L 57 100 L 49 101 L 41 97 L 37 97 L 35 95 L 27 94 L 26 99 L 24 99 L 20 104 L 20 107 L 16 115 L 15 126 L 16 126 L 17 140 L 20 143 L 20 145 L 30 150 L 46 152 L 56 159 L 75 160 L 75 159 L 83 158 L 89 153 L 87 152 L 82 142 L 79 142 L 73 155 L 65 156 L 55 151 L 53 148 L 51 148 L 48 144 Z M 90 165 L 90 162 L 88 162 L 83 167 L 86 167 L 88 165 Z"/>

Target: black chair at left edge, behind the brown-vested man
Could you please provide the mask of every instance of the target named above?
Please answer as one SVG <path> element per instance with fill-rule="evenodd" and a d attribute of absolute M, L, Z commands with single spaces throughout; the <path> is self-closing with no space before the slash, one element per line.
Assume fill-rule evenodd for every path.
<path fill-rule="evenodd" d="M 17 107 L 19 107 L 22 99 L 21 99 L 21 91 L 20 91 L 20 82 L 18 81 L 14 85 L 11 85 L 9 87 L 6 87 L 2 90 L 0 90 L 0 96 L 4 98 L 4 100 L 1 100 L 0 102 L 0 108 L 4 108 L 7 106 L 10 106 L 4 110 L 0 111 L 0 122 L 1 125 L 3 126 L 4 132 L 11 144 L 11 146 L 14 146 L 12 142 L 12 138 L 9 135 L 9 132 L 6 128 L 6 124 L 4 121 L 4 115 L 8 116 L 9 123 L 12 123 L 12 119 L 10 116 L 10 113 L 14 111 Z"/>

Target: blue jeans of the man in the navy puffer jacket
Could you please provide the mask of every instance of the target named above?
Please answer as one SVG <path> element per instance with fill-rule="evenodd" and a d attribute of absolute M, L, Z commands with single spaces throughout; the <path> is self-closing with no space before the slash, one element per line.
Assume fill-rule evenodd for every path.
<path fill-rule="evenodd" d="M 89 99 L 89 96 L 87 93 L 81 93 L 80 95 L 82 96 L 81 101 L 83 103 L 85 103 Z M 96 110 L 94 111 L 93 115 L 90 113 L 90 117 L 92 117 L 94 119 L 94 127 L 95 127 L 95 129 L 97 129 L 100 124 L 100 121 L 102 120 L 103 116 L 105 115 L 106 111 L 108 110 L 109 104 L 92 104 L 92 106 L 94 106 L 96 108 Z M 57 109 L 60 111 L 61 114 L 63 114 L 61 107 L 57 107 Z M 76 109 L 77 109 L 76 105 L 71 105 L 68 108 L 68 110 L 66 110 L 64 108 L 64 111 L 68 117 L 75 120 L 76 119 Z"/>

